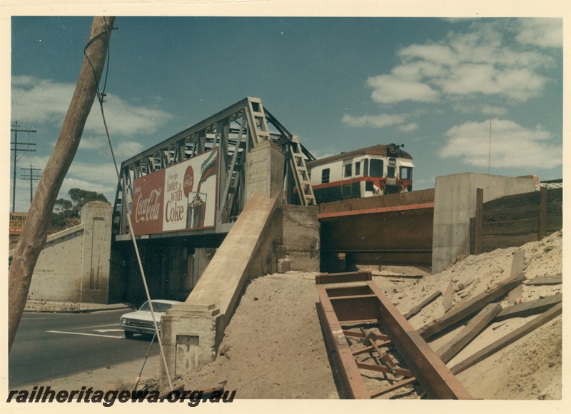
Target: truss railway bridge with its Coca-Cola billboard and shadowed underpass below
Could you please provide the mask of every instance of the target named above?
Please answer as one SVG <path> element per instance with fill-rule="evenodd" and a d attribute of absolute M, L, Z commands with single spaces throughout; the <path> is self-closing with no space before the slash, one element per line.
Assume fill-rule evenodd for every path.
<path fill-rule="evenodd" d="M 311 155 L 248 97 L 121 163 L 113 207 L 110 301 L 144 298 L 131 231 L 153 297 L 184 301 L 252 193 L 312 206 Z M 132 226 L 131 226 L 132 223 Z"/>

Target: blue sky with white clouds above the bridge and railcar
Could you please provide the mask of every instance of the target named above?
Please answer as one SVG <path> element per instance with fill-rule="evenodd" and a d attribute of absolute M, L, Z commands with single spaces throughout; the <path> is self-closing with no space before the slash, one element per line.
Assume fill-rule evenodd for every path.
<path fill-rule="evenodd" d="M 37 151 L 18 161 L 16 211 L 29 208 L 20 168 L 44 168 L 54 148 L 91 21 L 11 17 L 11 123 L 37 131 L 19 133 Z M 119 162 L 257 96 L 318 158 L 404 143 L 415 189 L 488 168 L 562 178 L 562 19 L 118 16 L 115 26 L 105 108 Z M 60 196 L 79 187 L 112 203 L 115 174 L 96 106 Z"/>

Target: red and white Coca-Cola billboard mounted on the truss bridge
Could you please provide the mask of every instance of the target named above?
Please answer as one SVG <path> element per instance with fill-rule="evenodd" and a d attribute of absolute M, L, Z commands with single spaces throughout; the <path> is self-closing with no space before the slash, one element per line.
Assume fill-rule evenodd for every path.
<path fill-rule="evenodd" d="M 136 236 L 216 226 L 218 148 L 133 181 Z"/>

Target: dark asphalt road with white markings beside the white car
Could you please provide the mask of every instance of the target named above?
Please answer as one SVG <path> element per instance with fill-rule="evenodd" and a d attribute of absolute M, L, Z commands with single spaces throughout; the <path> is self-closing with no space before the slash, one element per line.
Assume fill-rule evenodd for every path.
<path fill-rule="evenodd" d="M 129 360 L 142 364 L 151 338 L 124 337 L 119 318 L 126 312 L 24 313 L 9 355 L 9 388 Z M 156 354 L 155 340 L 151 355 Z"/>

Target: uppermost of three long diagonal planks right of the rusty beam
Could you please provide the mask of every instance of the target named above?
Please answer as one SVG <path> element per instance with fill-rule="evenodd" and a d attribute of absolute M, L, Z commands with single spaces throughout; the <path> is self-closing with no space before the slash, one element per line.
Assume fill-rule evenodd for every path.
<path fill-rule="evenodd" d="M 469 301 L 455 306 L 440 318 L 424 325 L 418 330 L 418 333 L 420 333 L 420 336 L 425 340 L 433 338 L 435 335 L 442 333 L 451 326 L 456 325 L 462 320 L 480 312 L 480 310 L 482 310 L 482 308 L 484 308 L 488 303 L 501 298 L 507 292 L 511 291 L 516 286 L 519 286 L 523 281 L 525 281 L 525 276 L 523 274 L 515 276 L 515 278 L 507 278 L 504 281 L 497 283 L 497 285 L 488 288 L 487 291 L 471 298 Z"/>

